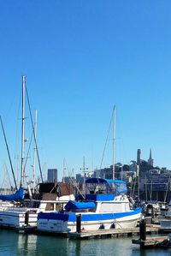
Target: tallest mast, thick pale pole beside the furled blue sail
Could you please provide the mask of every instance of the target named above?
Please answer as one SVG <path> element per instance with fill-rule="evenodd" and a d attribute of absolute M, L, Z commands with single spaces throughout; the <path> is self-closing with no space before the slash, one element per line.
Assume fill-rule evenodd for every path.
<path fill-rule="evenodd" d="M 22 75 L 22 126 L 21 126 L 21 186 L 24 184 L 24 121 L 25 121 L 25 86 L 26 77 Z"/>

